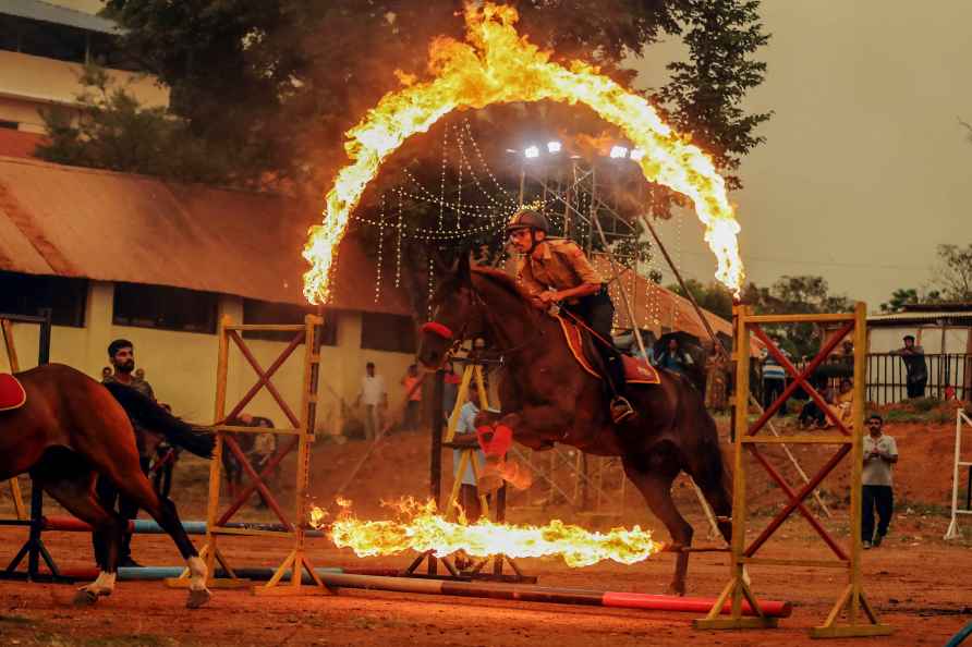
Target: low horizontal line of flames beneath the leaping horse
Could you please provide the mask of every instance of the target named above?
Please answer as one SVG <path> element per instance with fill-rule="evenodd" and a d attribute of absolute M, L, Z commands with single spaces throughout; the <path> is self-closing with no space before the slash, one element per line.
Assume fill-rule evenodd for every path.
<path fill-rule="evenodd" d="M 608 533 L 585 530 L 555 520 L 545 526 L 498 524 L 481 520 L 467 524 L 447 521 L 435 501 L 420 503 L 406 498 L 393 504 L 401 521 L 362 521 L 345 508 L 331 524 L 329 537 L 338 548 L 351 548 L 357 557 L 390 556 L 414 550 L 442 557 L 458 550 L 477 558 L 506 554 L 513 558 L 560 556 L 569 566 L 590 566 L 603 560 L 622 564 L 643 561 L 661 549 L 652 534 L 639 526 Z M 319 510 L 319 509 L 316 509 Z M 321 514 L 312 511 L 311 524 L 321 527 Z"/>

